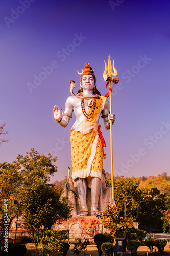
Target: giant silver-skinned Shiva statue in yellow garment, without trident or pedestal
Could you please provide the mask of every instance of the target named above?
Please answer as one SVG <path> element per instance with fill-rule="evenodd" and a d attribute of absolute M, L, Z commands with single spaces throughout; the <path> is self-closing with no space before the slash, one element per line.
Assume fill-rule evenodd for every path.
<path fill-rule="evenodd" d="M 79 72 L 78 72 L 79 73 Z M 80 215 L 87 215 L 87 187 L 91 188 L 91 215 L 98 212 L 98 201 L 102 186 L 103 146 L 99 118 L 102 114 L 104 126 L 110 129 L 110 120 L 115 121 L 115 115 L 109 114 L 109 102 L 101 96 L 96 88 L 93 69 L 86 63 L 81 75 L 79 91 L 73 93 L 75 82 L 70 81 L 71 94 L 65 103 L 63 117 L 58 106 L 54 106 L 54 118 L 66 127 L 72 112 L 76 122 L 71 128 L 71 161 L 72 179 L 76 181 L 81 202 Z"/>

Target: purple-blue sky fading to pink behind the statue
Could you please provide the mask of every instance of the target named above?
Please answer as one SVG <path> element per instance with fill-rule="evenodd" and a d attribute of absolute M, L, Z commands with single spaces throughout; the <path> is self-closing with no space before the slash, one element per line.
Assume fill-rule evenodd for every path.
<path fill-rule="evenodd" d="M 5 138 L 11 139 L 0 146 L 0 162 L 34 147 L 57 156 L 51 181 L 63 179 L 71 167 L 75 118 L 64 129 L 53 106 L 64 108 L 69 80 L 78 90 L 77 70 L 86 62 L 106 94 L 104 60 L 110 53 L 120 81 L 112 92 L 114 175 L 170 174 L 170 2 L 1 0 L 0 9 L 0 124 L 6 123 Z M 100 123 L 104 169 L 110 172 L 110 134 Z"/>

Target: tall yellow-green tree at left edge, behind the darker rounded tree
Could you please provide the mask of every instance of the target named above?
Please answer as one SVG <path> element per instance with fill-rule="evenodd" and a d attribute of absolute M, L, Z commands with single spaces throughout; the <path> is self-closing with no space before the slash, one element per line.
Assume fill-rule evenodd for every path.
<path fill-rule="evenodd" d="M 8 200 L 9 228 L 28 189 L 50 181 L 50 176 L 57 171 L 53 164 L 56 161 L 57 157 L 53 158 L 52 154 L 40 155 L 32 148 L 26 156 L 18 155 L 12 164 L 0 163 L 0 217 L 4 214 L 4 200 Z M 14 200 L 18 200 L 17 206 L 14 205 Z"/>

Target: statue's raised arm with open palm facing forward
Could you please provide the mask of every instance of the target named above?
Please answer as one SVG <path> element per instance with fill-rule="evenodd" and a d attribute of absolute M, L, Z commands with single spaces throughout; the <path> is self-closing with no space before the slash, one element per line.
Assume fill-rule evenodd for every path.
<path fill-rule="evenodd" d="M 69 120 L 72 117 L 72 112 L 73 112 L 73 104 L 72 104 L 71 96 L 68 97 L 66 100 L 65 110 L 62 118 L 61 118 L 61 111 L 59 110 L 58 106 L 55 105 L 53 109 L 54 118 L 64 128 L 68 125 Z"/>

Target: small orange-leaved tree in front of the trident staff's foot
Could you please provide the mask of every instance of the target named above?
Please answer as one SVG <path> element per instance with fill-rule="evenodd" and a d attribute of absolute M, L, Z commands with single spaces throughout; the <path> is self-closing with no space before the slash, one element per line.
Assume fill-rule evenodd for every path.
<path fill-rule="evenodd" d="M 134 221 L 132 217 L 120 217 L 118 207 L 113 205 L 108 205 L 107 209 L 102 214 L 98 214 L 97 217 L 101 218 L 103 226 L 109 229 L 114 238 L 113 246 L 116 244 L 117 234 L 127 230 Z"/>

